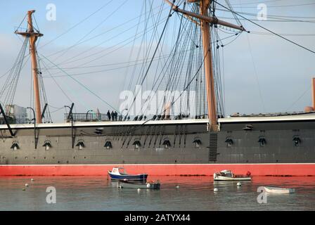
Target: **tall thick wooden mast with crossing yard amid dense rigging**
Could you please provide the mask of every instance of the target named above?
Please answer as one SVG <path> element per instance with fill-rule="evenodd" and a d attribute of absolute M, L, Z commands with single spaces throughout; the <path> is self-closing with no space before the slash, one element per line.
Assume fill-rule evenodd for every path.
<path fill-rule="evenodd" d="M 212 0 L 187 0 L 188 2 L 199 2 L 200 14 L 191 13 L 180 9 L 178 6 L 172 4 L 171 1 L 165 0 L 172 9 L 176 12 L 183 13 L 188 17 L 198 18 L 200 20 L 200 28 L 203 37 L 203 56 L 205 57 L 205 82 L 207 91 L 207 106 L 208 106 L 208 117 L 210 120 L 210 130 L 217 130 L 217 103 L 214 90 L 214 75 L 213 75 L 213 62 L 212 62 L 212 46 L 211 46 L 211 32 L 210 24 L 219 24 L 226 27 L 231 27 L 236 30 L 245 31 L 244 27 L 233 25 L 231 23 L 224 22 L 215 17 L 208 15 L 208 9 Z"/>

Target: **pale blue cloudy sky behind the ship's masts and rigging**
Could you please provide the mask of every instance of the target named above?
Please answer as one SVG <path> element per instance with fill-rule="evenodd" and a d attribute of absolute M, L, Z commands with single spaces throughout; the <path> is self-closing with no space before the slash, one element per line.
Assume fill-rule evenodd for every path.
<path fill-rule="evenodd" d="M 224 4 L 225 1 L 219 2 Z M 284 34 L 285 38 L 315 51 L 314 1 L 233 0 L 230 3 L 235 11 L 254 14 L 259 13 L 260 9 L 257 6 L 264 3 L 267 7 L 267 16 L 289 16 L 291 20 L 307 20 L 307 22 L 275 22 L 271 21 L 272 18 L 268 18 L 266 21 L 254 22 L 278 34 Z M 47 7 L 51 4 L 56 6 L 56 20 L 47 20 L 47 13 L 51 10 Z M 43 70 L 53 120 L 62 121 L 65 113 L 63 106 L 70 105 L 72 102 L 75 102 L 76 113 L 96 111 L 96 108 L 101 113 L 106 113 L 110 109 L 108 105 L 119 108 L 120 92 L 126 89 L 129 80 L 132 81 L 134 77 L 131 77 L 130 68 L 115 68 L 119 67 L 120 63 L 136 58 L 136 49 L 139 48 L 140 41 L 137 39 L 129 44 L 123 41 L 135 35 L 136 24 L 139 22 L 136 17 L 141 14 L 143 7 L 148 7 L 148 4 L 150 4 L 148 0 L 0 0 L 2 9 L 0 87 L 5 81 L 3 75 L 12 67 L 23 44 L 22 37 L 15 35 L 14 31 L 22 22 L 25 13 L 35 9 L 36 23 L 40 32 L 44 34 L 39 40 L 37 50 L 39 56 L 46 61 L 47 67 L 52 66 L 47 63 L 49 60 L 68 74 L 86 73 L 74 76 L 77 80 L 75 81 L 63 75 L 59 69 L 49 70 L 53 76 L 63 75 L 55 79 L 49 77 L 48 72 Z M 161 3 L 155 0 L 154 4 L 160 6 Z M 165 5 L 164 12 L 168 13 L 168 11 L 169 8 Z M 231 18 L 231 14 L 220 11 L 217 16 Z M 249 15 L 244 16 L 257 19 Z M 176 17 L 170 20 L 172 25 L 176 25 Z M 233 22 L 233 20 L 226 20 Z M 240 22 L 251 33 L 244 32 L 232 44 L 224 46 L 226 115 L 302 111 L 305 106 L 311 105 L 311 77 L 315 77 L 315 54 L 274 35 L 266 35 L 266 30 L 246 20 Z M 161 27 L 162 25 L 164 24 L 161 24 Z M 25 26 L 23 23 L 22 27 Z M 161 29 L 159 31 L 161 32 Z M 169 32 L 172 32 L 172 26 L 169 27 Z M 257 32 L 264 32 L 264 34 L 257 34 Z M 88 40 L 95 36 L 97 37 Z M 169 35 L 169 38 L 172 39 L 172 35 Z M 113 48 L 113 46 L 120 48 Z M 113 51 L 113 49 L 117 50 Z M 130 54 L 131 49 L 133 54 Z M 108 67 L 107 71 L 101 68 L 102 72 L 97 72 L 100 68 L 93 68 L 95 65 L 103 64 L 114 65 Z M 91 68 L 71 69 L 78 66 Z M 88 73 L 91 71 L 93 73 Z M 30 96 L 29 62 L 21 72 L 15 103 L 24 107 L 32 106 Z"/>

